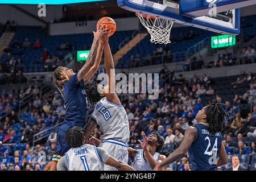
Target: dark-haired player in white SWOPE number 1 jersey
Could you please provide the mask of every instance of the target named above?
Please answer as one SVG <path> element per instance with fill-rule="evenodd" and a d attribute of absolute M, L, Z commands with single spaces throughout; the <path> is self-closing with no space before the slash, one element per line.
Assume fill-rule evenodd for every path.
<path fill-rule="evenodd" d="M 119 171 L 134 171 L 128 164 L 110 156 L 104 148 L 87 144 L 86 131 L 81 127 L 69 128 L 66 141 L 72 148 L 57 163 L 57 171 L 102 171 L 103 164 Z"/>

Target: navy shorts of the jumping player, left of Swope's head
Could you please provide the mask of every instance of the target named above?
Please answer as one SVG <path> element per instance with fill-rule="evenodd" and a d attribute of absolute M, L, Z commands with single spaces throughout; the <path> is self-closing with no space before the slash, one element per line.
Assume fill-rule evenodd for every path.
<path fill-rule="evenodd" d="M 58 162 L 70 148 L 65 140 L 65 130 L 60 129 L 57 133 L 57 146 L 52 160 Z"/>

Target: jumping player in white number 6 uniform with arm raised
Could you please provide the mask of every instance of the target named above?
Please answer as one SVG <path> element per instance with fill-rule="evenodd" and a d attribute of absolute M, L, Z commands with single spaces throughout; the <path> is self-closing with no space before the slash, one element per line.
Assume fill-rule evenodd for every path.
<path fill-rule="evenodd" d="M 97 104 L 94 107 L 86 129 L 87 138 L 90 137 L 90 134 L 97 124 L 100 125 L 103 132 L 100 147 L 105 148 L 113 158 L 128 163 L 128 151 L 125 144 L 129 142 L 129 121 L 126 111 L 115 93 L 114 62 L 108 40 L 107 35 L 102 37 L 108 85 L 105 87 L 102 85 L 94 85 L 93 88 L 90 89 L 94 90 L 94 92 L 88 92 L 88 95 L 90 94 L 90 101 Z M 98 88 L 101 89 L 101 93 L 98 92 Z M 116 169 L 112 166 L 104 165 L 104 171 L 115 170 Z"/>

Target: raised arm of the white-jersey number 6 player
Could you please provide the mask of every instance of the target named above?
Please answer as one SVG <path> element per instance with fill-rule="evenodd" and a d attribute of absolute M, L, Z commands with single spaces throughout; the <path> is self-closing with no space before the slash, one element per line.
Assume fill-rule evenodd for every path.
<path fill-rule="evenodd" d="M 115 70 L 114 70 L 114 61 L 112 57 L 112 53 L 109 46 L 109 38 L 108 35 L 104 35 L 102 37 L 102 41 L 104 44 L 104 54 L 105 54 L 105 69 L 106 74 L 108 76 L 108 85 L 105 86 L 104 92 L 108 101 L 114 102 L 115 104 L 121 104 L 117 94 L 115 94 Z"/>

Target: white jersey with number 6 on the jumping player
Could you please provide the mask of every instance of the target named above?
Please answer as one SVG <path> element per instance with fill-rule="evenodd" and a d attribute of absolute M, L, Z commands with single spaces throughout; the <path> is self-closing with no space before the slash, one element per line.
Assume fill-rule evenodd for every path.
<path fill-rule="evenodd" d="M 129 142 L 129 121 L 122 105 L 114 104 L 104 97 L 94 107 L 92 118 L 101 127 L 102 140 L 117 139 Z"/>

